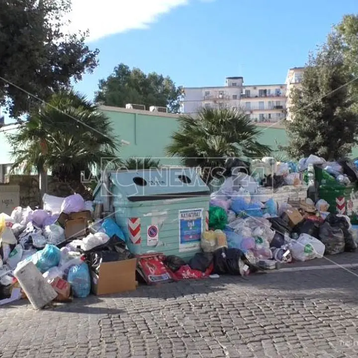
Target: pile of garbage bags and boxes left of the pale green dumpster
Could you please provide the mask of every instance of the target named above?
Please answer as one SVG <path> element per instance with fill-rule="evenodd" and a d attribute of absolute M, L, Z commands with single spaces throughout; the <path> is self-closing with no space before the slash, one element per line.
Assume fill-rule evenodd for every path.
<path fill-rule="evenodd" d="M 28 298 L 40 309 L 53 300 L 87 297 L 91 290 L 102 294 L 99 283 L 105 286 L 106 277 L 100 267 L 133 259 L 112 218 L 92 221 L 92 202 L 79 194 L 45 194 L 43 201 L 44 209 L 16 207 L 11 216 L 0 214 L 0 304 Z"/>

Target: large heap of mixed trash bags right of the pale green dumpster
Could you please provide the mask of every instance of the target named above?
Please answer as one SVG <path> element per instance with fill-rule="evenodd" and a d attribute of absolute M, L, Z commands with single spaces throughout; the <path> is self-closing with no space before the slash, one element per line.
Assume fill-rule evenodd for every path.
<path fill-rule="evenodd" d="M 312 179 L 308 169 L 313 166 L 322 169 L 321 185 L 329 193 L 332 185 L 333 190 L 337 190 L 337 185 L 347 188 L 357 183 L 358 161 L 356 163 L 348 160 L 326 162 L 311 155 L 297 165 L 293 162 L 278 163 L 273 158 L 255 160 L 251 163 L 251 176 L 242 171 L 235 173 L 231 168 L 231 175 L 219 190 L 211 194 L 209 230 L 202 234 L 202 250 L 212 253 L 221 249 L 225 241 L 222 238 L 218 245 L 217 236 L 221 232 L 226 237 L 226 248 L 240 250 L 252 265 L 265 269 L 324 255 L 355 252 L 358 235 L 357 227 L 351 223 L 352 212 L 348 210 L 342 214 L 336 210 L 336 205 L 331 207 L 324 198 L 315 201 L 307 197 L 287 198 L 278 203 L 273 197 L 263 195 L 261 188 L 267 185 L 275 187 L 278 181 L 296 185 L 302 174 L 307 182 Z M 351 194 L 349 200 L 353 200 L 352 197 Z M 348 201 L 347 207 L 352 206 Z"/>

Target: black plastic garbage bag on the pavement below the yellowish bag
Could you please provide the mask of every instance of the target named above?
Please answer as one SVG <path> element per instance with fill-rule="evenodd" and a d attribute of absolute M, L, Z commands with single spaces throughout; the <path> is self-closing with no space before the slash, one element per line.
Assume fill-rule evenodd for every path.
<path fill-rule="evenodd" d="M 243 276 L 245 265 L 251 272 L 258 270 L 239 249 L 220 248 L 214 252 L 213 273 Z"/>

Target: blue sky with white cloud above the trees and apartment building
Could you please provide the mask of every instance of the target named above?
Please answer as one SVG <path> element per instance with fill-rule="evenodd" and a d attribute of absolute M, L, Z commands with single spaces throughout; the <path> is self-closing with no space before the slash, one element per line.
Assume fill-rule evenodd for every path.
<path fill-rule="evenodd" d="M 90 4 L 93 3 L 93 6 Z M 357 0 L 73 0 L 71 30 L 90 31 L 99 66 L 75 88 L 89 98 L 123 62 L 185 87 L 283 83 Z M 99 7 L 100 5 L 100 7 Z"/>

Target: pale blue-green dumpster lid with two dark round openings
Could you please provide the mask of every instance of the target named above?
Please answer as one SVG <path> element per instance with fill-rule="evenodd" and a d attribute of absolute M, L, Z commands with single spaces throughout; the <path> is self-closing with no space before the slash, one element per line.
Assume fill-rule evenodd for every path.
<path fill-rule="evenodd" d="M 195 168 L 110 172 L 109 179 L 130 201 L 210 195 Z"/>

